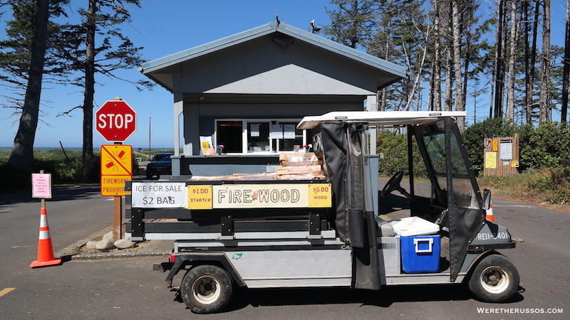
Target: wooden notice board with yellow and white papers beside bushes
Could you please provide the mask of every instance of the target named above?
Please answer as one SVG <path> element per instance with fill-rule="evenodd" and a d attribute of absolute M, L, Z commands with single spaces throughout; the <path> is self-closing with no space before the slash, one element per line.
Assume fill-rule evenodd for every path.
<path fill-rule="evenodd" d="M 484 139 L 484 176 L 512 176 L 519 173 L 519 134 Z"/>

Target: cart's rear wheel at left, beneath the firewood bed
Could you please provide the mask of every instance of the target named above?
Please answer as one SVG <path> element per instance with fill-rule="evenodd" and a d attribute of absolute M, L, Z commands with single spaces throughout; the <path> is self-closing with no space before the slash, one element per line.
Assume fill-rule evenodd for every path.
<path fill-rule="evenodd" d="M 224 309 L 232 299 L 232 277 L 214 265 L 199 265 L 182 279 L 180 294 L 185 304 L 197 314 Z"/>

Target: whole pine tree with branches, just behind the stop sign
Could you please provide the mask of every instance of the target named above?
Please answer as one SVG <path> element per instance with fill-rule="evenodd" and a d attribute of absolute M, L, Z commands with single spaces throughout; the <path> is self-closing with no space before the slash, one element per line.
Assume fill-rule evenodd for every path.
<path fill-rule="evenodd" d="M 125 36 L 120 25 L 130 21 L 128 7 L 140 8 L 140 0 L 88 0 L 88 9 L 79 10 L 83 16 L 80 25 L 68 25 L 62 37 L 69 45 L 60 52 L 60 58 L 67 60 L 70 68 L 83 75 L 75 80 L 84 88 L 83 104 L 71 111 L 83 110 L 83 176 L 88 178 L 93 159 L 93 103 L 95 97 L 95 74 L 117 78 L 116 70 L 135 68 L 142 63 L 141 47 L 136 47 Z M 102 36 L 100 41 L 96 36 Z M 139 90 L 150 88 L 149 81 L 130 81 Z"/>

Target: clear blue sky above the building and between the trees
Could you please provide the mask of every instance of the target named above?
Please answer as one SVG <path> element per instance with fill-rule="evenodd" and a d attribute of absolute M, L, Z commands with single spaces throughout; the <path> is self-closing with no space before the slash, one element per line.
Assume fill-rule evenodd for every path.
<path fill-rule="evenodd" d="M 142 46 L 142 58 L 153 60 L 181 50 L 199 46 L 209 41 L 230 36 L 249 28 L 279 20 L 298 28 L 306 29 L 309 21 L 315 19 L 318 26 L 328 24 L 325 7 L 332 8 L 328 0 L 142 0 L 142 9 L 133 9 L 133 22 L 125 24 L 123 32 L 135 46 Z M 565 1 L 552 1 L 552 43 L 563 45 Z M 72 0 L 72 6 L 86 6 L 85 0 Z M 487 14 L 492 14 L 491 11 Z M 6 14 L 4 19 L 9 19 Z M 78 14 L 71 16 L 78 18 Z M 0 37 L 4 38 L 4 21 L 0 25 Z M 123 70 L 118 75 L 130 80 L 146 79 L 135 69 Z M 147 148 L 149 139 L 149 118 L 152 118 L 152 148 L 172 148 L 172 94 L 162 87 L 138 92 L 133 85 L 96 75 L 100 84 L 95 88 L 95 111 L 107 100 L 121 97 L 135 109 L 138 116 L 137 131 L 125 142 L 134 149 Z M 0 87 L 0 95 L 5 89 Z M 43 90 L 44 103 L 41 110 L 46 114 L 39 122 L 35 147 L 59 146 L 81 147 L 81 110 L 75 110 L 71 117 L 56 117 L 83 101 L 83 92 L 78 87 L 53 87 Z M 479 102 L 487 105 L 487 100 Z M 486 107 L 485 107 L 486 108 Z M 470 110 L 467 110 L 468 112 Z M 11 147 L 18 129 L 16 117 L 9 117 L 11 110 L 0 109 L 0 146 Z M 478 111 L 484 114 L 484 111 Z M 479 116 L 480 117 L 480 116 Z M 15 122 L 16 121 L 16 122 Z M 93 146 L 108 144 L 98 132 L 93 132 Z"/>

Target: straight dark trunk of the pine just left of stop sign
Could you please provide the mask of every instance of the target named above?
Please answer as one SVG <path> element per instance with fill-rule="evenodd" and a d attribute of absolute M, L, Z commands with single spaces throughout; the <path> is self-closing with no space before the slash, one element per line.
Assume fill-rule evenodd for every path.
<path fill-rule="evenodd" d="M 95 15 L 97 0 L 89 0 L 85 61 L 85 95 L 83 96 L 83 178 L 90 176 L 93 159 L 93 99 L 95 97 Z"/>

